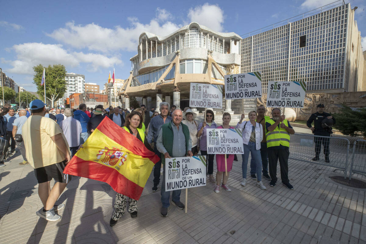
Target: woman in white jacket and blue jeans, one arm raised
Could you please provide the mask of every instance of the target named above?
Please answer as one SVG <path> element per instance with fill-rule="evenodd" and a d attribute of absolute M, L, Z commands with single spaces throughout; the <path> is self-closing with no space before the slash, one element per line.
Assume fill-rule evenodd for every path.
<path fill-rule="evenodd" d="M 266 187 L 262 183 L 262 159 L 261 159 L 261 141 L 263 139 L 263 127 L 261 124 L 257 123 L 255 119 L 257 119 L 257 112 L 251 111 L 249 112 L 249 121 L 243 122 L 245 115 L 242 114 L 242 117 L 239 123 L 236 125 L 236 128 L 243 129 L 243 147 L 244 154 L 242 154 L 242 172 L 243 172 L 243 181 L 242 185 L 245 186 L 247 183 L 247 168 L 248 168 L 248 158 L 249 152 L 251 157 L 255 160 L 255 165 L 257 166 L 257 186 L 263 190 Z"/>

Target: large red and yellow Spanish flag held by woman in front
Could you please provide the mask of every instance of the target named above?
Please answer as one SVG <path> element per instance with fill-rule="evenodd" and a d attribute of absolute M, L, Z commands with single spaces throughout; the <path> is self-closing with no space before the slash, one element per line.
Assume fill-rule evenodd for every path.
<path fill-rule="evenodd" d="M 103 181 L 138 200 L 158 161 L 139 139 L 105 117 L 66 165 L 64 174 Z"/>

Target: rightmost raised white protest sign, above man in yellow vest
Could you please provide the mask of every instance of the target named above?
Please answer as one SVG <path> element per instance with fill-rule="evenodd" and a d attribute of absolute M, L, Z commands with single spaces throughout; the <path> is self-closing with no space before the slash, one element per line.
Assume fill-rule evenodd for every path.
<path fill-rule="evenodd" d="M 305 92 L 304 81 L 269 81 L 266 105 L 269 108 L 302 108 Z"/>

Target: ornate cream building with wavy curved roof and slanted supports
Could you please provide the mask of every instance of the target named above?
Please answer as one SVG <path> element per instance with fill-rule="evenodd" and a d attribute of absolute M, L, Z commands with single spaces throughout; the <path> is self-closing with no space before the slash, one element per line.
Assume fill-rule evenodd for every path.
<path fill-rule="evenodd" d="M 164 100 L 188 106 L 191 82 L 224 85 L 226 74 L 239 73 L 242 38 L 192 22 L 165 37 L 143 32 L 130 76 L 119 95 L 143 97 L 143 104 Z M 125 99 L 125 107 L 129 107 Z M 229 107 L 228 111 L 231 111 Z"/>

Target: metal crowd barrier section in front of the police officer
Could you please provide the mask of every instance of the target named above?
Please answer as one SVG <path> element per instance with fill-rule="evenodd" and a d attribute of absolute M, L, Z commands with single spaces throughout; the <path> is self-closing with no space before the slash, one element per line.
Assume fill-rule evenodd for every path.
<path fill-rule="evenodd" d="M 316 140 L 326 140 L 329 142 L 329 163 L 325 162 L 324 145 L 321 144 L 319 160 L 313 161 L 315 157 Z M 328 141 L 329 140 L 329 141 Z M 350 141 L 346 138 L 335 136 L 315 136 L 311 134 L 294 134 L 290 135 L 290 157 L 304 162 L 320 164 L 337 168 L 336 170 L 344 171 L 344 179 L 347 178 L 347 165 L 350 150 Z M 365 161 L 364 161 L 365 162 Z M 365 166 L 362 168 L 365 172 Z"/>

